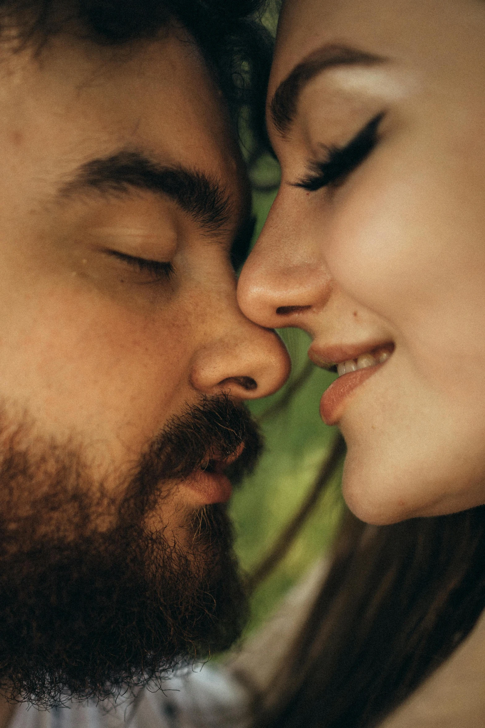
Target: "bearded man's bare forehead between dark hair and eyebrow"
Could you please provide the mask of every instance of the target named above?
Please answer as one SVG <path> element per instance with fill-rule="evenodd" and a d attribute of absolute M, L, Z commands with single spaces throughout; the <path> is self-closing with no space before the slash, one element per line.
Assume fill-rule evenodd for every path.
<path fill-rule="evenodd" d="M 136 148 L 217 178 L 240 207 L 246 182 L 228 113 L 199 50 L 180 33 L 116 50 L 62 36 L 40 58 L 9 59 L 0 135 L 23 140 L 19 154 L 44 157 L 47 178 Z"/>

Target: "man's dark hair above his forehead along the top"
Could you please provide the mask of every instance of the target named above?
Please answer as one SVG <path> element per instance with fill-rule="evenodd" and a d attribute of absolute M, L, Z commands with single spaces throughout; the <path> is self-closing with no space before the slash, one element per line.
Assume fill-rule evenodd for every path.
<path fill-rule="evenodd" d="M 253 144 L 265 141 L 264 102 L 272 37 L 260 23 L 266 0 L 0 0 L 0 33 L 41 47 L 77 23 L 87 39 L 120 46 L 150 39 L 170 23 L 196 40 L 225 96 L 233 122 L 241 111 Z"/>

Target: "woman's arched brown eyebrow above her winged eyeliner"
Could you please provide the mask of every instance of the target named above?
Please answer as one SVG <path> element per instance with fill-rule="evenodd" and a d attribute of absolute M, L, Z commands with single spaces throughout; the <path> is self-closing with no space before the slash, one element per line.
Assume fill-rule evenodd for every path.
<path fill-rule="evenodd" d="M 279 84 L 270 103 L 270 117 L 276 131 L 286 135 L 297 111 L 303 88 L 315 76 L 335 66 L 374 66 L 386 59 L 345 45 L 328 44 L 311 52 Z"/>

